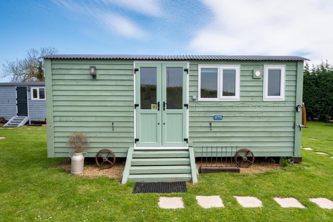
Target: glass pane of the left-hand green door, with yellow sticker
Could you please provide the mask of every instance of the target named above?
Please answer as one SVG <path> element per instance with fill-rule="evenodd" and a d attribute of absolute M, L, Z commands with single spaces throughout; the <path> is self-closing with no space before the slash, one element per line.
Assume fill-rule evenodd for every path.
<path fill-rule="evenodd" d="M 140 109 L 151 109 L 156 102 L 157 68 L 140 68 Z"/>

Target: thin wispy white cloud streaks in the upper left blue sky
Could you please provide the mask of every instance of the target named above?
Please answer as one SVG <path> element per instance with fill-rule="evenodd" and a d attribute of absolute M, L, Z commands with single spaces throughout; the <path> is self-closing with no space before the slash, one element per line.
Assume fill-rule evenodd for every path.
<path fill-rule="evenodd" d="M 142 39 L 147 37 L 149 33 L 143 28 L 140 28 L 140 24 L 133 22 L 128 16 L 126 16 L 126 13 L 121 13 L 119 10 L 115 10 L 115 5 L 127 10 L 140 12 L 147 16 L 160 15 L 161 7 L 159 1 L 143 1 L 145 4 L 139 4 L 141 1 L 135 0 L 123 0 L 123 2 L 116 0 L 95 0 L 86 2 L 54 0 L 54 3 L 83 18 L 87 18 L 88 15 L 89 19 L 92 19 L 106 31 L 127 38 Z"/>

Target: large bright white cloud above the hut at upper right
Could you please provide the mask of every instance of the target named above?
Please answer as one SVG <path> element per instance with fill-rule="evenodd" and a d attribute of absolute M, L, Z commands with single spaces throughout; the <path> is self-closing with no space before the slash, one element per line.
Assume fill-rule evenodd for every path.
<path fill-rule="evenodd" d="M 211 23 L 188 48 L 202 54 L 302 55 L 333 61 L 332 1 L 203 0 Z"/>

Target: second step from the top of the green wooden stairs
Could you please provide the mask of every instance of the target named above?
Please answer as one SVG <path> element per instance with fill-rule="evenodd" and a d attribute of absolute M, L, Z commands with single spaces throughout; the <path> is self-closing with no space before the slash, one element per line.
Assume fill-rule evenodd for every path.
<path fill-rule="evenodd" d="M 141 158 L 132 159 L 131 166 L 189 165 L 189 158 Z"/>

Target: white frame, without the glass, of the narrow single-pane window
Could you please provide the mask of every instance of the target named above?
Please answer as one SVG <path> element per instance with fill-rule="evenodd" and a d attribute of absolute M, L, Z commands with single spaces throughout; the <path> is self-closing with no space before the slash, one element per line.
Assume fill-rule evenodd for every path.
<path fill-rule="evenodd" d="M 268 70 L 281 70 L 280 79 L 280 96 L 268 96 Z M 286 66 L 285 65 L 264 65 L 264 86 L 263 86 L 263 101 L 285 101 L 285 86 L 286 86 Z"/>

